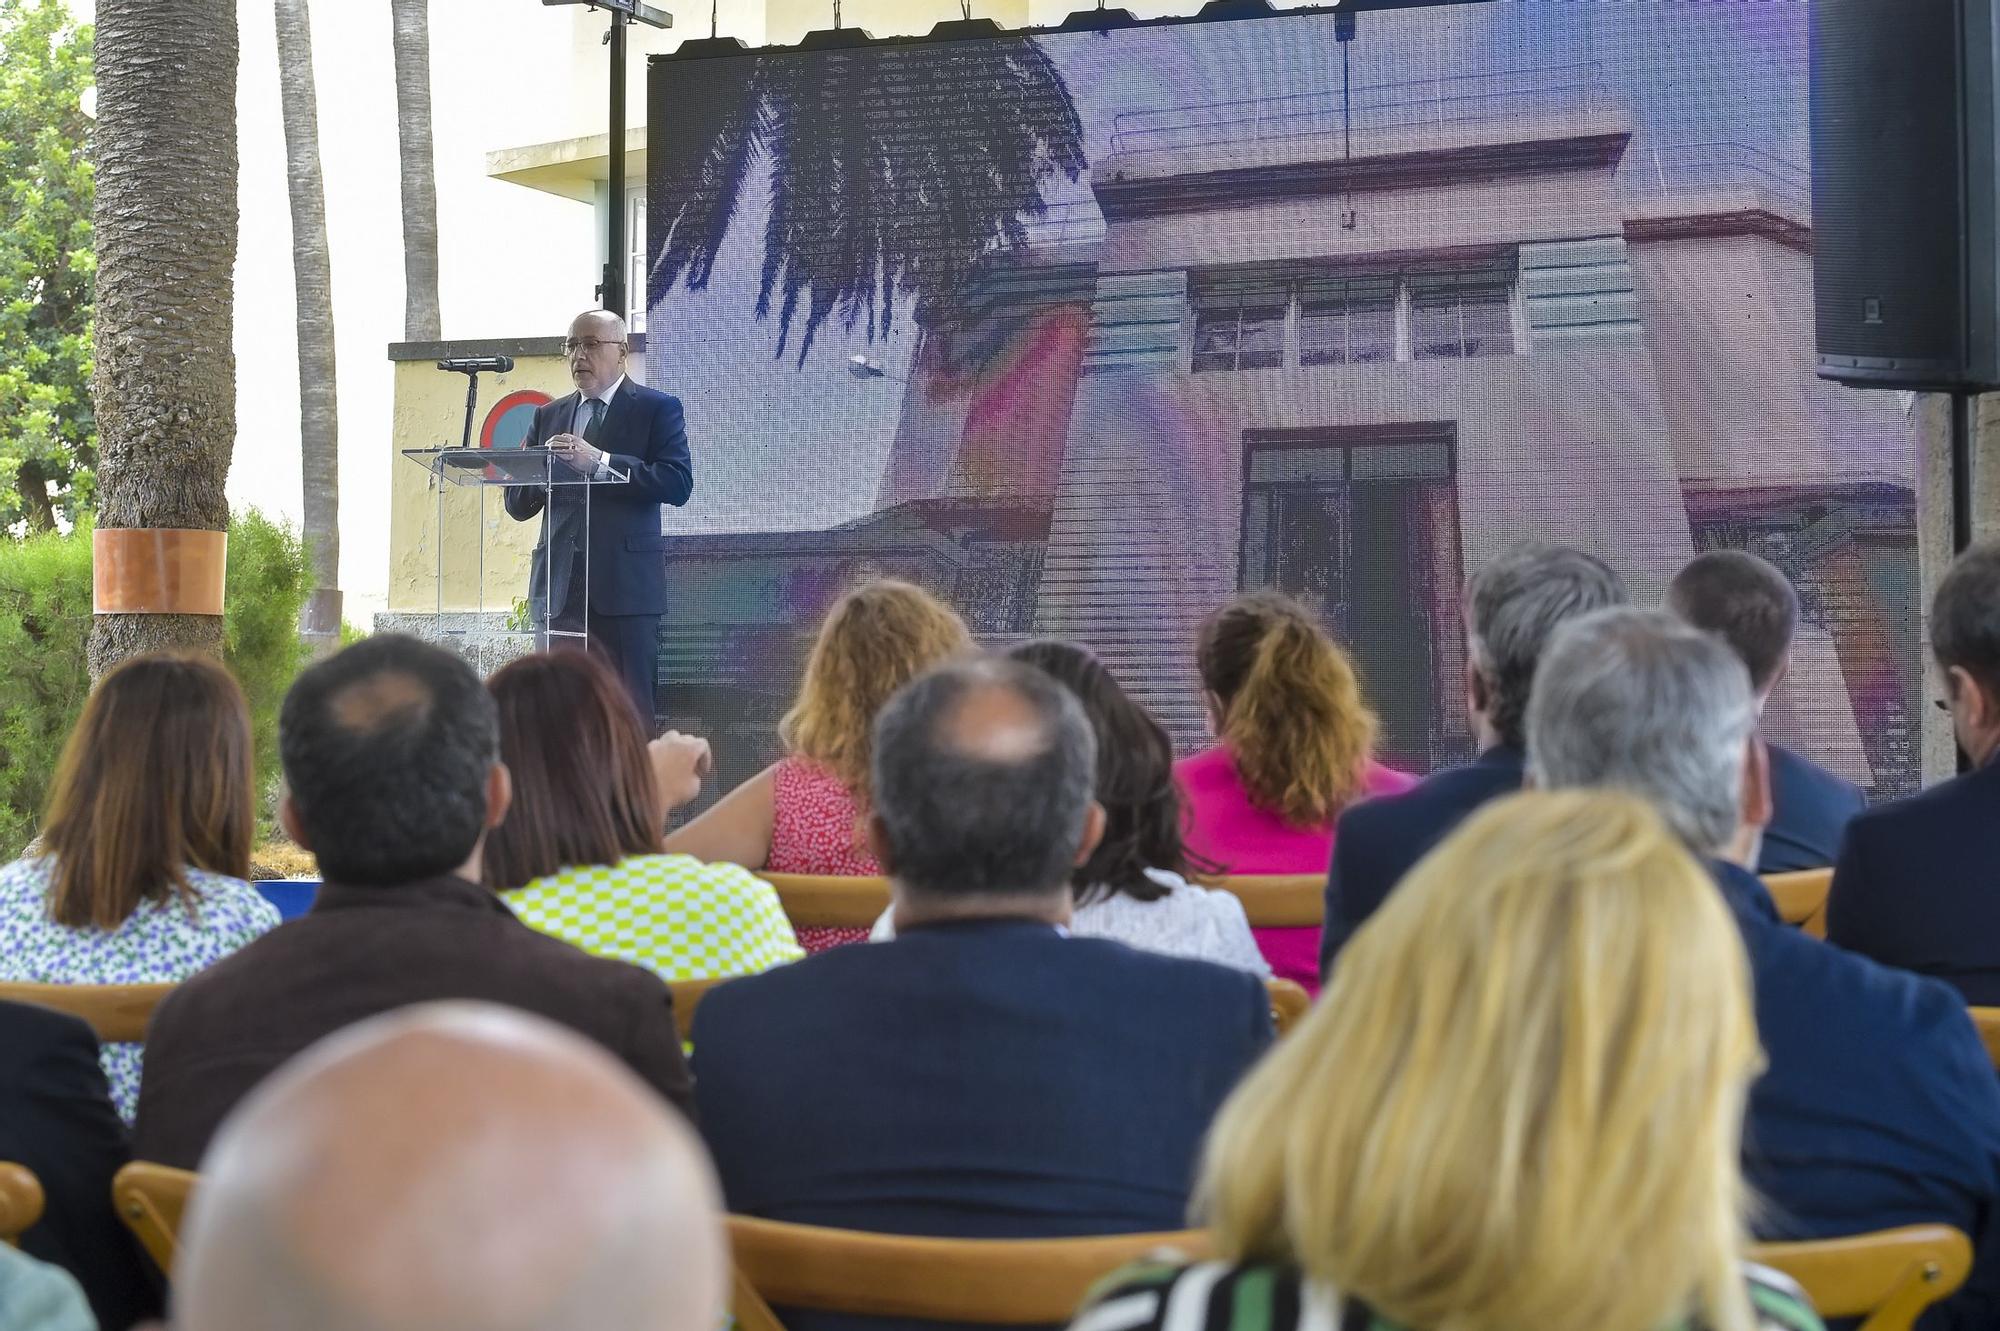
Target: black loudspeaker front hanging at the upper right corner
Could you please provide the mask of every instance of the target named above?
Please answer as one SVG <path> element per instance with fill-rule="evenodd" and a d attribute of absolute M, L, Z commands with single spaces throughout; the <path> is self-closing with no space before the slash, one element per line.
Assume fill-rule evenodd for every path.
<path fill-rule="evenodd" d="M 1812 280 L 1820 370 L 1966 366 L 1958 0 L 1812 0 Z M 1902 372 L 1902 374 L 1898 374 Z"/>

